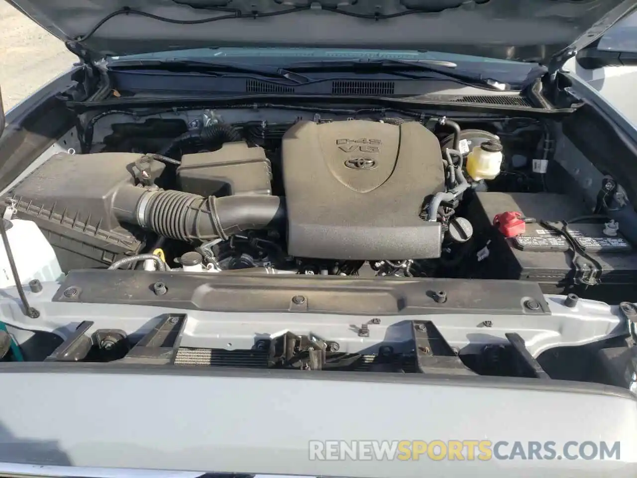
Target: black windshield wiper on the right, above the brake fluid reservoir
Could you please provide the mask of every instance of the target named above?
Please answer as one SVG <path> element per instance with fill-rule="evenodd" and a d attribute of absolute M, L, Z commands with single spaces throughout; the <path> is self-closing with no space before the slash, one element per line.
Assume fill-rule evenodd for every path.
<path fill-rule="evenodd" d="M 460 82 L 478 85 L 489 89 L 505 90 L 508 85 L 497 82 L 482 74 L 470 73 L 468 71 L 454 71 L 458 65 L 447 60 L 418 59 L 405 60 L 394 58 L 359 58 L 351 60 L 324 60 L 313 62 L 298 62 L 287 65 L 285 68 L 290 71 L 425 71 L 427 73 L 437 73 L 447 78 L 452 78 Z M 420 76 L 418 78 L 421 78 Z"/>

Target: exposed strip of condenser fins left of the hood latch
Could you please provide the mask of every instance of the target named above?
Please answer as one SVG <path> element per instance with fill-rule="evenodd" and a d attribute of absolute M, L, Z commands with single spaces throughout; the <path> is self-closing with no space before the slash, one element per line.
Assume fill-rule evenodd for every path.
<path fill-rule="evenodd" d="M 175 365 L 267 368 L 268 351 L 180 347 L 175 357 Z"/>

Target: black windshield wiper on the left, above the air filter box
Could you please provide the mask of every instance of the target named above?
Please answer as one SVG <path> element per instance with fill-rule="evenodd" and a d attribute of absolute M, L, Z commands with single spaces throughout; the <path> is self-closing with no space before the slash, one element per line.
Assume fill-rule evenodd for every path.
<path fill-rule="evenodd" d="M 136 69 L 151 68 L 166 71 L 192 71 L 207 73 L 215 76 L 224 76 L 224 73 L 247 73 L 269 78 L 289 80 L 292 83 L 303 84 L 311 81 L 311 78 L 288 71 L 277 66 L 248 65 L 243 63 L 210 62 L 189 59 L 117 59 L 108 62 L 108 69 Z"/>

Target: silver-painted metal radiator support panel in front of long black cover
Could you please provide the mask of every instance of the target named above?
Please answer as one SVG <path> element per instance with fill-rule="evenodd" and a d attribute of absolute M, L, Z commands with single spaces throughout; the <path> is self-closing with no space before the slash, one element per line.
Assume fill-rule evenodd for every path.
<path fill-rule="evenodd" d="M 423 315 L 383 315 L 380 324 L 369 324 L 368 315 L 303 314 L 299 312 L 212 312 L 179 307 L 147 305 L 90 304 L 54 302 L 58 284 L 45 283 L 43 291 L 25 291 L 29 303 L 40 312 L 38 319 L 24 316 L 15 289 L 4 289 L 0 296 L 3 321 L 18 330 L 49 331 L 68 338 L 80 322 L 90 317 L 99 328 L 124 330 L 132 337 L 150 331 L 166 314 L 187 314 L 182 337 L 183 347 L 222 349 L 250 348 L 262 338 L 293 331 L 314 334 L 340 344 L 341 352 L 378 351 L 380 345 L 392 345 L 396 351 L 410 345 L 410 322 Z M 80 291 L 81 294 L 81 291 Z M 627 323 L 618 306 L 580 299 L 575 307 L 564 305 L 564 296 L 545 296 L 550 314 L 436 313 L 427 320 L 436 324 L 452 347 L 465 352 L 476 351 L 486 344 L 508 344 L 505 334 L 519 333 L 532 356 L 565 345 L 583 345 L 627 333 Z M 492 326 L 486 328 L 484 321 Z M 369 324 L 369 337 L 359 337 L 361 324 Z M 28 333 L 28 332 L 23 332 Z"/>

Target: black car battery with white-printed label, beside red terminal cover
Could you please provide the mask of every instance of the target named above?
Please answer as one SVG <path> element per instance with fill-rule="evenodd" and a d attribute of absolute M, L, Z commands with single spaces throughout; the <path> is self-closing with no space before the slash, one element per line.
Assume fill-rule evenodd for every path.
<path fill-rule="evenodd" d="M 637 284 L 637 252 L 620 231 L 605 233 L 604 221 L 588 219 L 571 221 L 590 215 L 582 203 L 563 194 L 476 192 L 471 203 L 475 229 L 476 256 L 473 269 L 483 279 L 519 279 L 540 283 L 545 293 L 567 293 L 582 289 L 586 270 L 576 266 L 573 242 L 584 254 L 583 263 L 592 259 L 595 286 L 632 286 Z M 506 237 L 506 229 L 494 225 L 496 215 L 519 212 L 526 224 L 524 232 Z M 562 228 L 564 235 L 543 225 L 550 222 Z M 503 233 L 503 230 L 505 233 Z M 516 231 L 517 233 L 517 231 Z M 596 264 L 595 264 L 596 263 Z M 581 265 L 581 263 L 579 263 Z M 588 268 L 588 264 L 583 269 Z"/>

